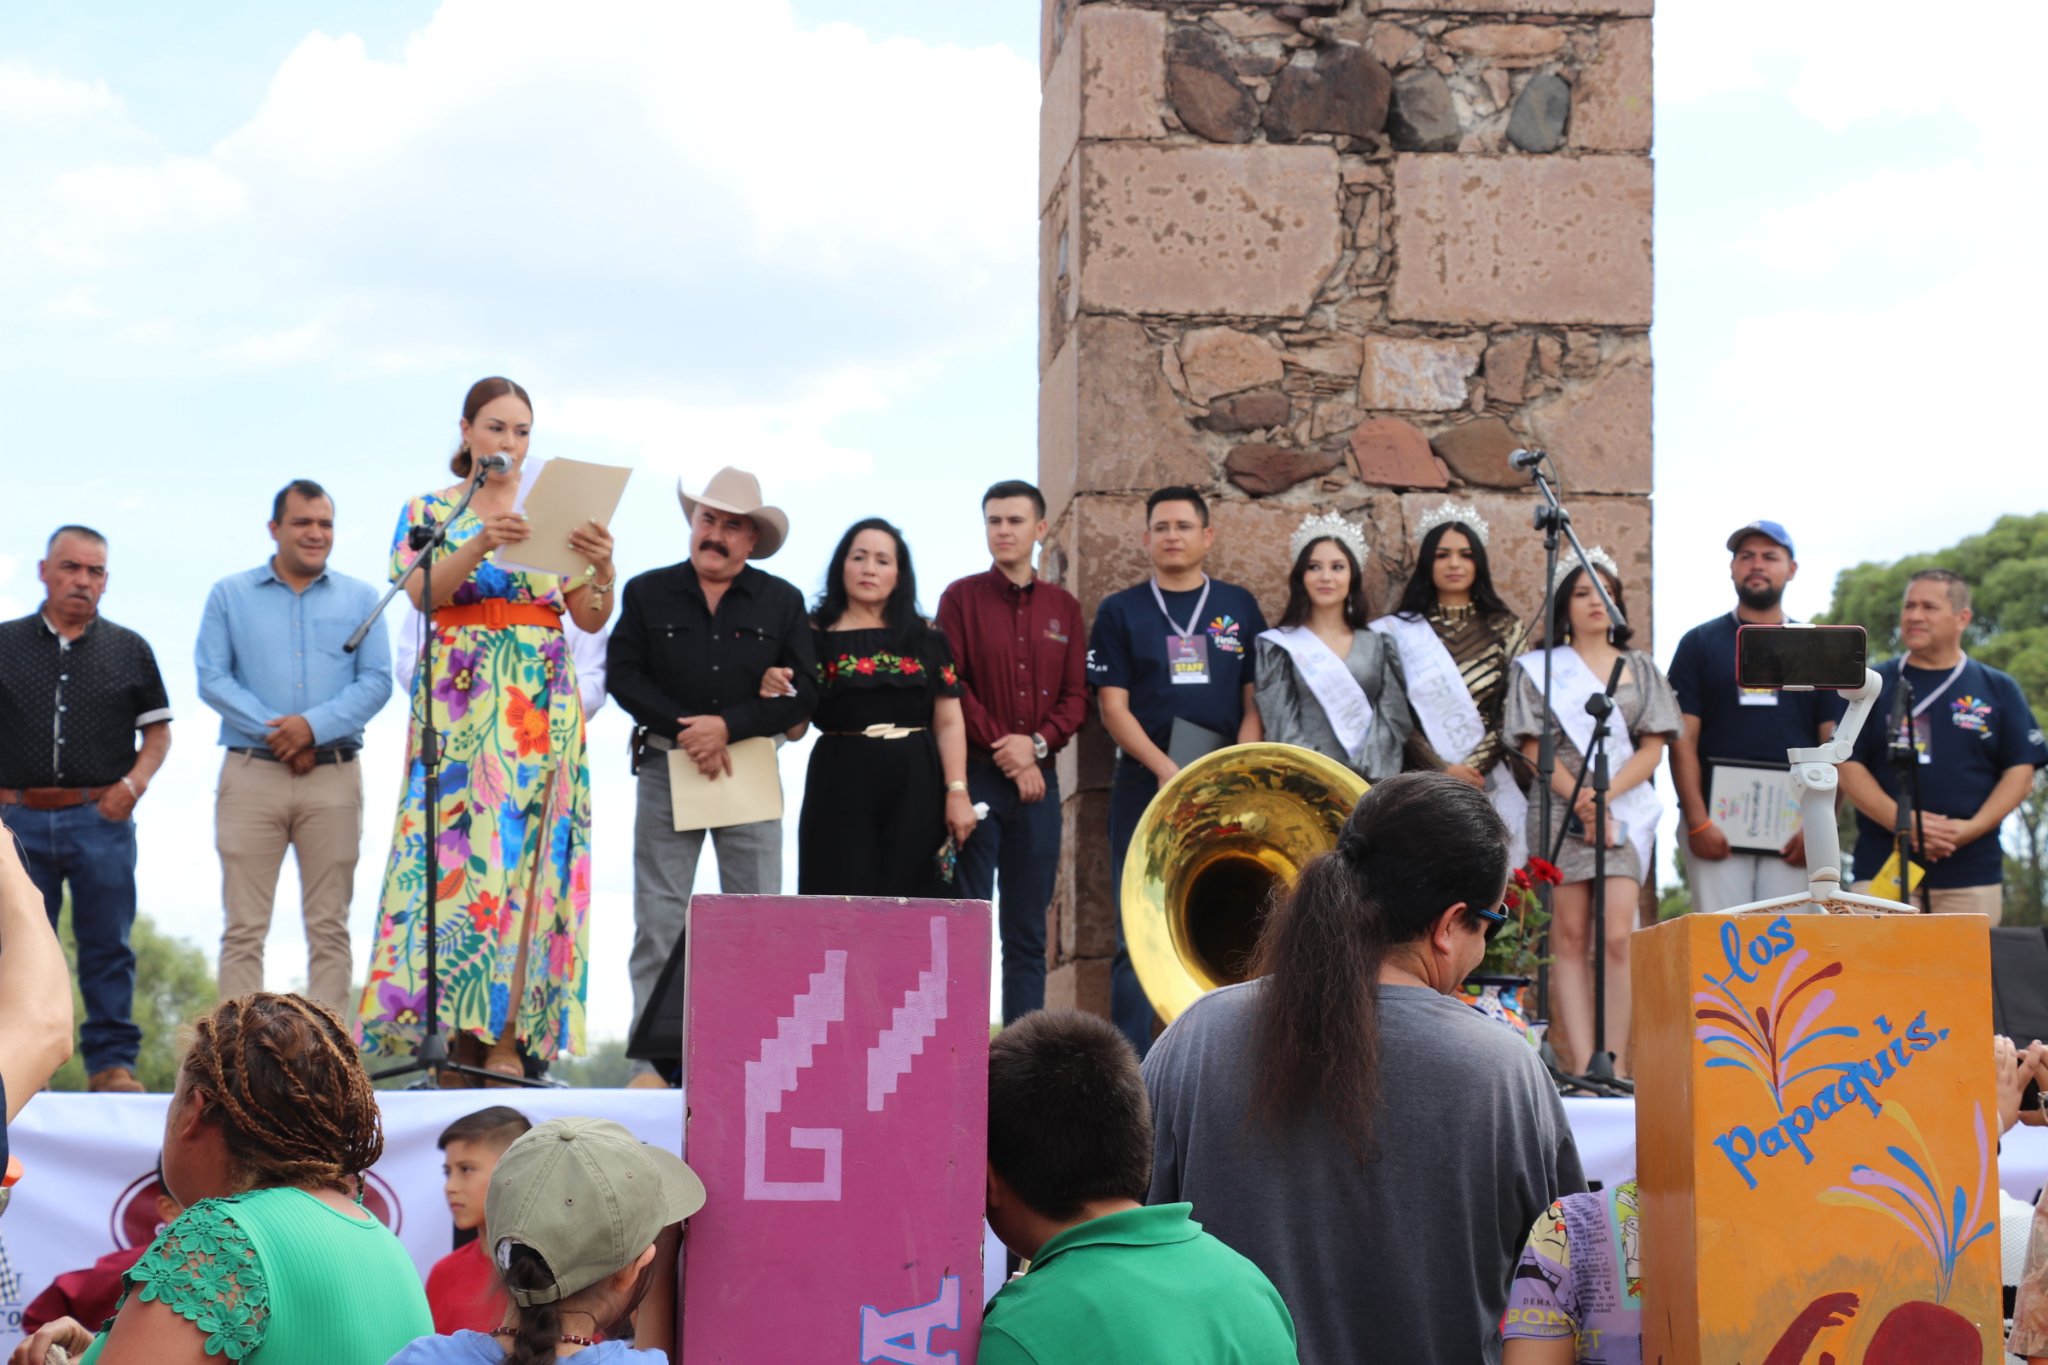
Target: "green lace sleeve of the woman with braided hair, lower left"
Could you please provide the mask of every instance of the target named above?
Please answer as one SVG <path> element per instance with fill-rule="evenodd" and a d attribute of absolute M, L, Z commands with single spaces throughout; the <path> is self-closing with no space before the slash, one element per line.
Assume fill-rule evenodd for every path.
<path fill-rule="evenodd" d="M 262 1345 L 270 1324 L 270 1285 L 256 1248 L 217 1199 L 184 1209 L 127 1279 L 145 1304 L 162 1304 L 205 1332 L 207 1355 L 240 1361 Z"/>

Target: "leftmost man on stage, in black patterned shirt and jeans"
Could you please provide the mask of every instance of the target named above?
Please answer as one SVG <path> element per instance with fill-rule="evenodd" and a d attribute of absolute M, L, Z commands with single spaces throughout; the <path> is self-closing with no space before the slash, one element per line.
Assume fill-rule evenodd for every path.
<path fill-rule="evenodd" d="M 41 610 L 0 624 L 0 823 L 51 925 L 72 892 L 86 1085 L 133 1093 L 133 814 L 170 753 L 170 698 L 150 643 L 100 620 L 106 536 L 59 526 L 37 573 Z"/>

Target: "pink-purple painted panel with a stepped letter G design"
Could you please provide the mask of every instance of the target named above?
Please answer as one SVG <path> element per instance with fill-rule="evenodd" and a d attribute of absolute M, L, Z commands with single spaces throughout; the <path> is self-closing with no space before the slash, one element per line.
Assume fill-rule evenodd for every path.
<path fill-rule="evenodd" d="M 983 900 L 690 902 L 690 1365 L 973 1365 L 989 939 Z"/>

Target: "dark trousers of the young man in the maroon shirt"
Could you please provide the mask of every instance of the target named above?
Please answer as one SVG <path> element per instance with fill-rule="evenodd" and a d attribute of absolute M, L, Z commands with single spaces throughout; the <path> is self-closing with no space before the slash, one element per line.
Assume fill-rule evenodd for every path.
<path fill-rule="evenodd" d="M 1059 874 L 1059 774 L 1042 765 L 1044 796 L 1026 802 L 995 763 L 967 765 L 969 800 L 987 802 L 954 868 L 954 888 L 969 900 L 995 900 L 1004 945 L 1004 1023 L 1044 1007 L 1044 909 Z"/>

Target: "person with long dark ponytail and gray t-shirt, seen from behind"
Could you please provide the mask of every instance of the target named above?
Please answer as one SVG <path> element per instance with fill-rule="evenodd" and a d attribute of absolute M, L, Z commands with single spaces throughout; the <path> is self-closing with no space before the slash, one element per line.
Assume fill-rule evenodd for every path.
<path fill-rule="evenodd" d="M 1542 1062 L 1454 999 L 1505 884 L 1485 792 L 1389 778 L 1145 1058 L 1149 1201 L 1266 1271 L 1305 1365 L 1497 1363 L 1524 1234 L 1585 1189 Z"/>

